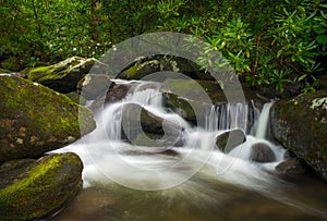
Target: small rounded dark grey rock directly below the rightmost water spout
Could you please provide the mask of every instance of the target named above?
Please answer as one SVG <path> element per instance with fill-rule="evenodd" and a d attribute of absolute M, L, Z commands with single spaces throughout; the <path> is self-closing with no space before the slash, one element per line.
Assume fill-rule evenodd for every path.
<path fill-rule="evenodd" d="M 255 162 L 274 162 L 276 156 L 267 144 L 256 143 L 251 146 L 249 159 Z"/>

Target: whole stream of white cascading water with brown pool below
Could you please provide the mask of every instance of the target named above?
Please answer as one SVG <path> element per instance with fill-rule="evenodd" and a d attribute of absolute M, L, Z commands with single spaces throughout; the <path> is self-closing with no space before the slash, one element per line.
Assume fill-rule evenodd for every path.
<path fill-rule="evenodd" d="M 308 175 L 284 180 L 275 171 L 284 160 L 284 149 L 269 142 L 271 103 L 262 112 L 251 102 L 213 106 L 205 124 L 192 126 L 162 106 L 158 87 L 146 85 L 138 84 L 123 101 L 107 106 L 92 134 L 57 150 L 82 158 L 84 188 L 49 220 L 327 220 L 325 183 Z M 181 125 L 183 145 L 123 142 L 126 103 Z M 215 147 L 215 137 L 232 128 L 246 132 L 246 142 L 223 154 Z M 270 147 L 276 160 L 249 160 L 256 143 Z"/>

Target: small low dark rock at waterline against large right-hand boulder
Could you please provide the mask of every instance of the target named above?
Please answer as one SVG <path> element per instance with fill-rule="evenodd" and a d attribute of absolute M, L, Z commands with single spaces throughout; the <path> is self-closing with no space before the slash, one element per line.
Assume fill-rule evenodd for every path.
<path fill-rule="evenodd" d="M 306 172 L 305 162 L 299 158 L 288 159 L 276 165 L 275 169 L 282 174 L 302 174 Z"/>

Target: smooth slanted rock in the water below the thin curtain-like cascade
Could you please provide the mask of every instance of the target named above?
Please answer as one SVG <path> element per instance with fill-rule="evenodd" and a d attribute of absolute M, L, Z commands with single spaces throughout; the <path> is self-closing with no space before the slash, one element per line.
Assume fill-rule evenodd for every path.
<path fill-rule="evenodd" d="M 216 145 L 222 152 L 229 152 L 244 142 L 246 142 L 246 136 L 239 128 L 219 134 L 216 138 Z"/>

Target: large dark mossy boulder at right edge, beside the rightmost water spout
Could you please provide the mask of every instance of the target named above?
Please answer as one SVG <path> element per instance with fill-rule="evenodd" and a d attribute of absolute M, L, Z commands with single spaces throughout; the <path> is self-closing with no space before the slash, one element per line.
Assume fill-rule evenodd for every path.
<path fill-rule="evenodd" d="M 276 102 L 271 134 L 327 181 L 327 90 Z"/>

